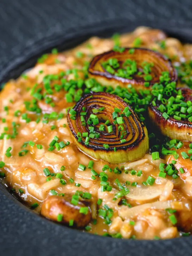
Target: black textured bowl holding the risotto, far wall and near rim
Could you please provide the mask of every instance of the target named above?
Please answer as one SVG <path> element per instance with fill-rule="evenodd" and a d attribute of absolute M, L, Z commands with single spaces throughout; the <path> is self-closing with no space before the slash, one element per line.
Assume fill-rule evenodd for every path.
<path fill-rule="evenodd" d="M 0 84 L 10 78 L 17 78 L 31 68 L 37 58 L 53 47 L 59 51 L 69 49 L 90 36 L 109 37 L 115 32 L 132 31 L 139 25 L 164 30 L 169 36 L 192 43 L 192 29 L 189 24 L 183 28 L 179 22 L 119 19 L 87 27 L 65 31 L 63 34 L 36 41 L 30 47 L 12 56 L 0 71 Z M 0 182 L 0 255 L 14 256 L 172 256 L 191 255 L 192 238 L 182 237 L 161 241 L 123 240 L 95 236 L 53 223 L 14 198 Z"/>

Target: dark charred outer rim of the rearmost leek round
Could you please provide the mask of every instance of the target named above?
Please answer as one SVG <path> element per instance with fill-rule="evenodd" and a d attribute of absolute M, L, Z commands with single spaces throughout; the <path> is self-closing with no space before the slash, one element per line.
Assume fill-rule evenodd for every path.
<path fill-rule="evenodd" d="M 129 47 L 129 48 L 126 48 L 122 53 L 118 53 L 118 54 L 119 55 L 126 55 L 126 53 L 128 53 L 128 51 L 130 49 L 135 49 L 136 51 L 140 51 L 140 52 L 143 51 L 143 53 L 147 52 L 150 56 L 153 55 L 154 58 L 156 60 L 158 60 L 158 63 L 161 60 L 161 62 L 164 63 L 167 66 L 167 70 L 164 70 L 164 71 L 169 71 L 169 73 L 171 74 L 170 82 L 173 82 L 173 81 L 176 82 L 177 81 L 177 71 L 174 69 L 174 67 L 173 67 L 173 65 L 171 63 L 171 60 L 169 60 L 168 58 L 163 56 L 161 53 L 155 52 L 155 51 L 150 50 L 150 49 L 145 49 L 145 48 Z M 144 86 L 145 81 L 143 81 L 143 79 L 139 79 L 139 78 L 137 78 L 137 79 L 134 79 L 134 78 L 133 79 L 122 78 L 122 77 L 115 76 L 115 75 L 113 75 L 111 73 L 108 73 L 104 69 L 103 69 L 102 72 L 94 69 L 96 63 L 98 61 L 100 61 L 102 58 L 106 57 L 106 59 L 103 59 L 103 61 L 104 61 L 104 60 L 107 60 L 107 59 L 109 59 L 111 57 L 116 57 L 116 55 L 117 55 L 117 52 L 111 50 L 111 51 L 104 52 L 104 53 L 102 53 L 100 55 L 95 56 L 92 59 L 90 65 L 89 65 L 88 72 L 90 73 L 90 75 L 95 76 L 95 77 L 105 77 L 105 78 L 107 78 L 110 81 L 111 80 L 116 80 L 116 81 L 119 81 L 121 83 L 128 83 L 128 84 L 132 84 L 132 85 L 134 84 L 134 85 L 142 85 L 142 86 Z M 161 74 L 159 74 L 159 75 L 161 75 Z M 156 82 L 158 82 L 158 81 L 151 81 L 151 82 L 149 81 L 149 84 L 150 84 L 149 87 L 151 87 Z"/>

